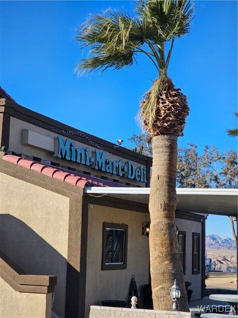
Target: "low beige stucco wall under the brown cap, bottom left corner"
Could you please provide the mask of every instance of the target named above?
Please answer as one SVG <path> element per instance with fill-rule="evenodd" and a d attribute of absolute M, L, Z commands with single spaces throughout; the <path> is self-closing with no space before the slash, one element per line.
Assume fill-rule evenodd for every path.
<path fill-rule="evenodd" d="M 51 293 L 19 293 L 0 278 L 1 318 L 51 318 L 51 302 Z"/>

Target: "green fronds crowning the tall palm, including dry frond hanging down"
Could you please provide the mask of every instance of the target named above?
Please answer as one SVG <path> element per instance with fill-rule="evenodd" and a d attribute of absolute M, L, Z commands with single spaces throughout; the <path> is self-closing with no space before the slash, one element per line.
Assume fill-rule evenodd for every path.
<path fill-rule="evenodd" d="M 167 70 L 174 40 L 189 32 L 192 14 L 189 0 L 139 0 L 135 16 L 111 9 L 94 14 L 77 30 L 76 40 L 90 50 L 76 70 L 119 70 L 132 65 L 138 53 L 145 54 L 158 70 L 158 79 L 141 103 L 141 118 L 150 126 L 160 89 L 169 80 Z M 166 55 L 165 42 L 169 41 L 171 47 Z"/>

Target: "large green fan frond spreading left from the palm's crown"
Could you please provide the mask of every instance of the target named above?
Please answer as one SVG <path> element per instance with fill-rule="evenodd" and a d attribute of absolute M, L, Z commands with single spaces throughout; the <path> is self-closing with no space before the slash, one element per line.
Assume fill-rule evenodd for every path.
<path fill-rule="evenodd" d="M 77 31 L 76 40 L 81 47 L 90 47 L 89 57 L 82 59 L 77 70 L 119 70 L 130 66 L 140 51 L 147 36 L 155 36 L 141 21 L 126 13 L 108 11 L 107 15 L 96 14 Z"/>

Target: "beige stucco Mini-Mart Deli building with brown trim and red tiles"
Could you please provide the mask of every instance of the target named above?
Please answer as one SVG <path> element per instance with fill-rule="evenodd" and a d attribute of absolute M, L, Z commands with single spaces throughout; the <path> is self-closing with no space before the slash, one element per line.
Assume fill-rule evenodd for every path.
<path fill-rule="evenodd" d="M 0 148 L 0 249 L 26 274 L 57 276 L 53 312 L 88 318 L 90 305 L 128 301 L 133 275 L 146 307 L 148 204 L 90 189 L 148 188 L 152 159 L 22 107 L 4 90 Z M 200 299 L 205 217 L 184 209 L 176 224 L 185 281 Z"/>

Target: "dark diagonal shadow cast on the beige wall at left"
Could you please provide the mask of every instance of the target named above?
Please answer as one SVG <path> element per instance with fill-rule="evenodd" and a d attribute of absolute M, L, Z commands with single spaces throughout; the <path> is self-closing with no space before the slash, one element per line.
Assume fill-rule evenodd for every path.
<path fill-rule="evenodd" d="M 53 310 L 60 317 L 65 312 L 66 317 L 76 317 L 80 273 L 54 247 L 18 218 L 1 214 L 0 250 L 26 274 L 57 276 Z"/>

